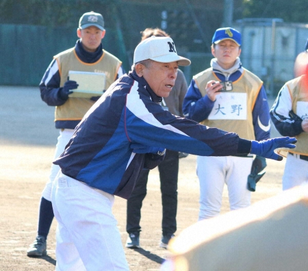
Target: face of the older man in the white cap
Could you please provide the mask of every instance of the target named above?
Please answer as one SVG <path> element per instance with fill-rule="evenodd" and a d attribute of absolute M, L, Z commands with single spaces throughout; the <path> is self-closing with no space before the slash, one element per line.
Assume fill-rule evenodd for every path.
<path fill-rule="evenodd" d="M 149 66 L 136 65 L 136 73 L 143 76 L 157 96 L 168 97 L 172 87 L 175 86 L 177 78 L 177 62 L 155 62 L 151 61 Z"/>

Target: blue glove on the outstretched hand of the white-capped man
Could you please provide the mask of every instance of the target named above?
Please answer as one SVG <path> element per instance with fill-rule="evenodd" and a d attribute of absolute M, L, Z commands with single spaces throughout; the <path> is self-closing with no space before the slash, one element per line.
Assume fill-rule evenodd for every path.
<path fill-rule="evenodd" d="M 274 152 L 279 148 L 294 149 L 297 140 L 289 136 L 283 138 L 270 138 L 264 141 L 251 141 L 251 153 L 265 158 L 281 161 L 283 157 Z"/>

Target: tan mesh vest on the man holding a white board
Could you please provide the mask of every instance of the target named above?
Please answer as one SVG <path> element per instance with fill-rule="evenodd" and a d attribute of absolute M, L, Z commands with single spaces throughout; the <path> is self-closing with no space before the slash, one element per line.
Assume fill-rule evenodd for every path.
<path fill-rule="evenodd" d="M 61 77 L 60 87 L 67 81 L 68 71 L 77 70 L 92 73 L 105 73 L 107 90 L 116 79 L 118 68 L 120 68 L 122 64 L 118 58 L 105 50 L 103 50 L 103 55 L 97 62 L 90 64 L 79 60 L 74 48 L 55 55 L 54 58 L 59 65 Z M 94 101 L 90 99 L 70 97 L 64 105 L 55 107 L 55 120 L 81 120 L 93 103 Z"/>

